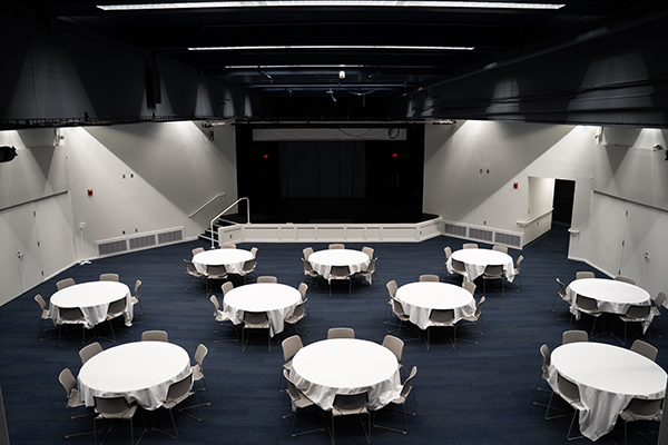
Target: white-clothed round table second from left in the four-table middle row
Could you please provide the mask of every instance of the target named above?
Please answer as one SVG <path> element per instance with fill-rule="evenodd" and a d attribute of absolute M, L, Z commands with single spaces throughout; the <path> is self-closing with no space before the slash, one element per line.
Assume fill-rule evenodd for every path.
<path fill-rule="evenodd" d="M 302 301 L 302 294 L 294 287 L 275 283 L 255 283 L 235 287 L 223 297 L 223 313 L 232 323 L 244 323 L 244 312 L 267 313 L 272 337 L 282 333 L 285 318 Z"/>

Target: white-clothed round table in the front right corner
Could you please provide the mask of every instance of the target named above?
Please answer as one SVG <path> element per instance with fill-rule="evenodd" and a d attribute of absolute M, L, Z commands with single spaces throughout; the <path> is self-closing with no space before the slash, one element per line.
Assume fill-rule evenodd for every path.
<path fill-rule="evenodd" d="M 666 395 L 666 372 L 630 349 L 603 343 L 577 342 L 557 347 L 551 355 L 549 383 L 557 388 L 557 373 L 578 385 L 586 409 L 580 432 L 591 441 L 609 433 L 631 398 Z"/>

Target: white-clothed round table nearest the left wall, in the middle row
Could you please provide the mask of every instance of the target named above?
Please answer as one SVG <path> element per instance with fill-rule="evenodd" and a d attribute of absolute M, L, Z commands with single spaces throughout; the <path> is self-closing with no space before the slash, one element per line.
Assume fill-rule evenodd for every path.
<path fill-rule="evenodd" d="M 49 301 L 51 317 L 62 325 L 58 308 L 78 307 L 84 314 L 84 327 L 92 328 L 98 323 L 107 319 L 107 310 L 111 301 L 126 299 L 125 324 L 132 325 L 132 301 L 130 288 L 118 281 L 90 281 L 81 283 L 58 290 Z"/>

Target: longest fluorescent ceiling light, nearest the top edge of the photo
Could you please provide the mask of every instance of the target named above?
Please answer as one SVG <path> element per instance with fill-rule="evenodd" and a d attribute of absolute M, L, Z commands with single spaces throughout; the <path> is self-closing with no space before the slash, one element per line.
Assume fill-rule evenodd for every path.
<path fill-rule="evenodd" d="M 512 3 L 505 1 L 432 1 L 432 0 L 232 0 L 232 1 L 188 1 L 174 3 L 145 4 L 98 4 L 105 11 L 140 11 L 151 9 L 210 9 L 210 8 L 254 8 L 254 7 L 410 7 L 410 8 L 478 8 L 478 9 L 560 9 L 566 4 Z"/>

